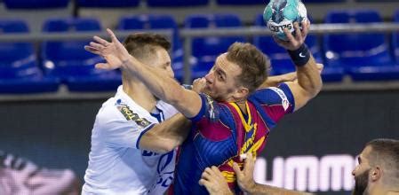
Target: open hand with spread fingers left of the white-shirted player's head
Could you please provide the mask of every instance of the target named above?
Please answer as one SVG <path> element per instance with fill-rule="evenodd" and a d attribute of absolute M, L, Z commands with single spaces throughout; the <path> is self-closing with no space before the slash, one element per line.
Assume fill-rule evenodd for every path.
<path fill-rule="evenodd" d="M 84 50 L 100 55 L 107 60 L 107 63 L 96 64 L 96 68 L 112 70 L 121 67 L 123 62 L 130 58 L 131 55 L 109 28 L 107 32 L 111 38 L 111 43 L 99 36 L 94 36 L 94 41 L 90 45 L 85 45 Z"/>

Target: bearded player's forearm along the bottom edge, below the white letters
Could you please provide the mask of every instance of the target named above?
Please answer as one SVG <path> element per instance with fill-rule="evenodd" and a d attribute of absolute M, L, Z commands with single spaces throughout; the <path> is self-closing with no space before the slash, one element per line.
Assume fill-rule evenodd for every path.
<path fill-rule="evenodd" d="M 290 191 L 259 183 L 256 183 L 253 189 L 248 189 L 246 192 L 250 195 L 311 195 L 311 193 L 307 192 Z"/>

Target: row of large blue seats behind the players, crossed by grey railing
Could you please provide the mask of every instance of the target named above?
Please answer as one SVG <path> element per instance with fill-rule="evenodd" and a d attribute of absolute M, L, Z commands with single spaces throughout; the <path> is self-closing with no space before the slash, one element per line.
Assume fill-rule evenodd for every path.
<path fill-rule="evenodd" d="M 378 12 L 371 10 L 336 11 L 327 14 L 326 23 L 381 22 Z M 399 22 L 399 11 L 395 14 Z M 264 27 L 262 17 L 255 25 Z M 186 28 L 241 27 L 234 14 L 197 14 L 185 21 Z M 172 28 L 174 32 L 173 68 L 182 78 L 182 49 L 179 27 L 169 15 L 132 15 L 122 18 L 118 30 Z M 1 32 L 27 33 L 21 20 L 0 20 Z M 100 31 L 100 22 L 89 18 L 52 19 L 44 23 L 43 31 L 75 32 Z M 193 40 L 193 77 L 200 77 L 213 65 L 216 56 L 227 51 L 235 41 L 251 41 L 272 60 L 273 73 L 293 71 L 286 51 L 270 36 L 204 37 Z M 389 42 L 391 41 L 391 42 Z M 0 43 L 0 92 L 28 93 L 58 89 L 60 83 L 71 91 L 114 90 L 120 84 L 120 73 L 96 70 L 94 64 L 102 59 L 84 51 L 88 41 L 52 41 L 41 43 L 40 55 L 32 43 Z M 317 61 L 323 61 L 324 82 L 339 82 L 345 74 L 355 81 L 399 80 L 399 33 L 391 37 L 381 33 L 309 35 L 307 45 Z M 390 50 L 393 48 L 393 50 Z M 38 57 L 37 57 L 38 56 Z"/>

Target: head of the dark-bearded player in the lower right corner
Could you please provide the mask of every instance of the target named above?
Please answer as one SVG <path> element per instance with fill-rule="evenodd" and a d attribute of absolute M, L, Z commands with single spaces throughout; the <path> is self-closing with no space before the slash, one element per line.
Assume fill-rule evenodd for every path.
<path fill-rule="evenodd" d="M 399 190 L 399 140 L 375 139 L 359 155 L 354 195 Z M 378 192 L 376 192 L 378 191 Z"/>

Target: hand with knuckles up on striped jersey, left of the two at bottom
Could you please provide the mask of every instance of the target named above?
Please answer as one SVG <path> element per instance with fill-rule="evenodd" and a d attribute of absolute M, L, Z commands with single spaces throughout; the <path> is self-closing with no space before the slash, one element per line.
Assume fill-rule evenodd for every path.
<path fill-rule="evenodd" d="M 211 195 L 232 195 L 233 192 L 228 188 L 225 177 L 220 173 L 219 168 L 212 166 L 205 168 L 199 181 L 200 185 L 205 186 Z"/>

